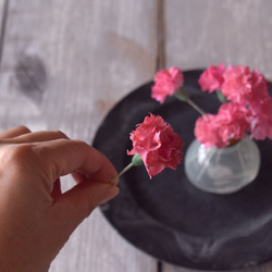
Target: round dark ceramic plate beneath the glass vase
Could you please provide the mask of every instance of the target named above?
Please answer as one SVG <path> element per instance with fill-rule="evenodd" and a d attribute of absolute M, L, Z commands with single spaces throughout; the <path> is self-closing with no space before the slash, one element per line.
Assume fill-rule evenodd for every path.
<path fill-rule="evenodd" d="M 201 71 L 184 73 L 185 89 L 206 112 L 215 113 L 215 95 L 202 92 Z M 184 140 L 194 139 L 199 114 L 187 103 L 150 98 L 152 83 L 125 97 L 100 125 L 94 146 L 121 171 L 129 163 L 129 133 L 149 113 L 160 114 Z M 151 181 L 145 166 L 133 168 L 120 181 L 120 195 L 101 206 L 118 232 L 137 248 L 169 263 L 200 270 L 231 270 L 272 259 L 272 141 L 257 143 L 261 170 L 254 183 L 231 195 L 195 188 L 184 165 L 164 170 Z"/>

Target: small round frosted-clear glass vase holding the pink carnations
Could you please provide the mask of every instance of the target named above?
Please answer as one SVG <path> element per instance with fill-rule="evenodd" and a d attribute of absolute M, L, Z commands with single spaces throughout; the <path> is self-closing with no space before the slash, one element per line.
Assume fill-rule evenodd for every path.
<path fill-rule="evenodd" d="M 260 169 L 260 151 L 250 138 L 225 148 L 205 148 L 195 139 L 185 153 L 184 164 L 187 178 L 197 188 L 230 194 L 256 178 Z"/>

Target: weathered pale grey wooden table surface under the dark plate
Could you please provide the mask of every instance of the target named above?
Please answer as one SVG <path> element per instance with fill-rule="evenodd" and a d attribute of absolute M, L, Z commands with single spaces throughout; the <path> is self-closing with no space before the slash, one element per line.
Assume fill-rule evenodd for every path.
<path fill-rule="evenodd" d="M 243 64 L 271 79 L 271 0 L 0 0 L 0 129 L 91 143 L 120 99 L 172 65 Z M 50 269 L 75 271 L 195 272 L 138 250 L 99 209 Z M 242 271 L 270 272 L 272 262 Z"/>

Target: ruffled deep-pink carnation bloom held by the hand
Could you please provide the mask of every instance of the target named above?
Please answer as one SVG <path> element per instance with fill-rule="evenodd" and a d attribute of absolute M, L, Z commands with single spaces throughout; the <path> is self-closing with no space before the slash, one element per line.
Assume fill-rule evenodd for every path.
<path fill-rule="evenodd" d="M 164 168 L 175 170 L 182 162 L 182 138 L 161 116 L 146 116 L 131 133 L 133 149 L 127 154 L 139 153 L 150 178 Z"/>

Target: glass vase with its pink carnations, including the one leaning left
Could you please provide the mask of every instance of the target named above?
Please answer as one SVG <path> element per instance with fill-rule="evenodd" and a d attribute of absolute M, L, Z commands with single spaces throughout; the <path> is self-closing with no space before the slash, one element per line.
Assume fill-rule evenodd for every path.
<path fill-rule="evenodd" d="M 264 76 L 248 66 L 210 65 L 198 83 L 202 91 L 217 92 L 222 102 L 217 114 L 195 104 L 183 83 L 180 69 L 160 71 L 151 97 L 163 103 L 168 96 L 175 96 L 200 114 L 194 129 L 196 139 L 184 159 L 188 181 L 217 194 L 248 185 L 260 169 L 260 151 L 254 139 L 272 138 L 272 101 Z"/>

